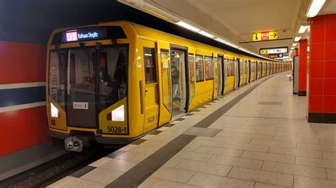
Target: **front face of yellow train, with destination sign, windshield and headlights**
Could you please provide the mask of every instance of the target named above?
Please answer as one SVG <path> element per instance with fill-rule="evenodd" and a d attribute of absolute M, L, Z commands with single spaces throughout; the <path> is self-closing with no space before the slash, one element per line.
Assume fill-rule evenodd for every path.
<path fill-rule="evenodd" d="M 68 151 L 82 151 L 95 140 L 128 143 L 142 133 L 136 121 L 129 127 L 129 117 L 140 111 L 128 110 L 128 99 L 136 98 L 128 81 L 139 76 L 135 43 L 136 31 L 125 22 L 52 33 L 47 48 L 49 130 L 50 136 L 65 139 Z"/>

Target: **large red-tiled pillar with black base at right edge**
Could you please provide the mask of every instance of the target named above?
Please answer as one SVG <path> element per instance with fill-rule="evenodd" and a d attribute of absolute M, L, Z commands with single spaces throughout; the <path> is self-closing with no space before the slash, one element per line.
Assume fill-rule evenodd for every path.
<path fill-rule="evenodd" d="M 336 14 L 310 20 L 308 122 L 336 123 Z"/>

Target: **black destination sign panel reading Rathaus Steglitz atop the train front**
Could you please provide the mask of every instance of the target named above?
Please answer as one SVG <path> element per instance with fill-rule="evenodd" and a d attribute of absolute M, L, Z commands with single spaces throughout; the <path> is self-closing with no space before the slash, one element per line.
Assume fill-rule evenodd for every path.
<path fill-rule="evenodd" d="M 59 34 L 62 35 L 62 43 L 127 38 L 123 32 L 123 28 L 120 26 L 79 28 L 75 30 L 67 30 Z"/>

